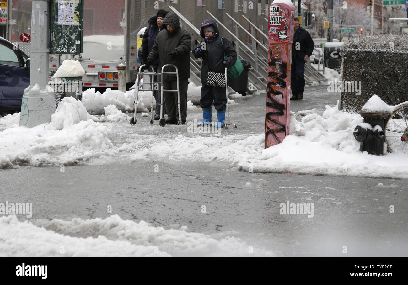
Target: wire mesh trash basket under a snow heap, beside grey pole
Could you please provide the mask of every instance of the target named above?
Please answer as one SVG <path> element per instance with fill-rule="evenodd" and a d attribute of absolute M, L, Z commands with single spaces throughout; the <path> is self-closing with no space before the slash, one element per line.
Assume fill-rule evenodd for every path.
<path fill-rule="evenodd" d="M 64 97 L 82 100 L 82 77 L 49 78 L 48 85 L 54 90 L 55 105 Z"/>

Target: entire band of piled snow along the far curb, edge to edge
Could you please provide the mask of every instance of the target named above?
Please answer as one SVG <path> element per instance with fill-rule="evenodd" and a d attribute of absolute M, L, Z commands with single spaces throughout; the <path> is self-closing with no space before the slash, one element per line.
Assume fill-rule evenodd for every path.
<path fill-rule="evenodd" d="M 113 121 L 123 121 L 109 128 L 113 136 L 126 133 L 129 124 L 127 115 L 115 106 L 106 110 L 113 114 Z M 344 113 L 337 106 L 326 106 L 322 115 L 315 110 L 299 111 L 297 115 L 302 119 L 296 121 L 294 113 L 291 114 L 290 135 L 268 149 L 264 149 L 263 133 L 241 133 L 239 129 L 194 133 L 192 122 L 174 126 L 169 133 L 157 132 L 156 128 L 149 128 L 151 125 L 142 127 L 142 134 L 129 133 L 126 140 L 113 145 L 107 131 L 112 125 L 101 124 L 97 118 L 86 115 L 81 102 L 68 97 L 58 106 L 51 124 L 27 129 L 16 127 L 18 115 L 0 118 L 0 127 L 9 127 L 0 132 L 0 161 L 2 168 L 10 168 L 10 163 L 31 166 L 98 163 L 99 158 L 103 163 L 122 159 L 219 161 L 247 172 L 408 178 L 408 155 L 384 152 L 383 156 L 376 156 L 359 151 L 353 131 L 363 122 L 360 115 Z"/>

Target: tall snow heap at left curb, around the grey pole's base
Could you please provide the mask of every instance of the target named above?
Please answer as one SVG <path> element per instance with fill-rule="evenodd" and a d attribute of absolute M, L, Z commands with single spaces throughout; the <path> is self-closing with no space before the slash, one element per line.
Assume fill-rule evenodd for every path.
<path fill-rule="evenodd" d="M 8 117 L 6 125 L 14 124 L 16 117 L 19 113 Z M 66 97 L 51 116 L 51 123 L 0 132 L 0 153 L 10 163 L 31 166 L 72 165 L 110 154 L 113 145 L 107 127 L 89 117 L 80 101 Z"/>

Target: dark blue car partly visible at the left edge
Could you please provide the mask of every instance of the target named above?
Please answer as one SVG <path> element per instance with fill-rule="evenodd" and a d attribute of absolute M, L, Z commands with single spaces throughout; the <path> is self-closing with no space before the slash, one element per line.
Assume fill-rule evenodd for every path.
<path fill-rule="evenodd" d="M 29 57 L 0 37 L 0 110 L 21 110 L 24 89 L 30 85 Z"/>

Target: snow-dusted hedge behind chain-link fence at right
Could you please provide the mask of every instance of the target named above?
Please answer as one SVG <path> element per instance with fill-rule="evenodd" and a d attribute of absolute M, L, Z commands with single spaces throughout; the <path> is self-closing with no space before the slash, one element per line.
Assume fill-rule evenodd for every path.
<path fill-rule="evenodd" d="M 361 94 L 350 92 L 344 84 L 340 110 L 359 113 L 374 94 L 388 105 L 408 100 L 408 51 L 347 48 L 342 55 L 341 81 L 359 84 Z"/>

